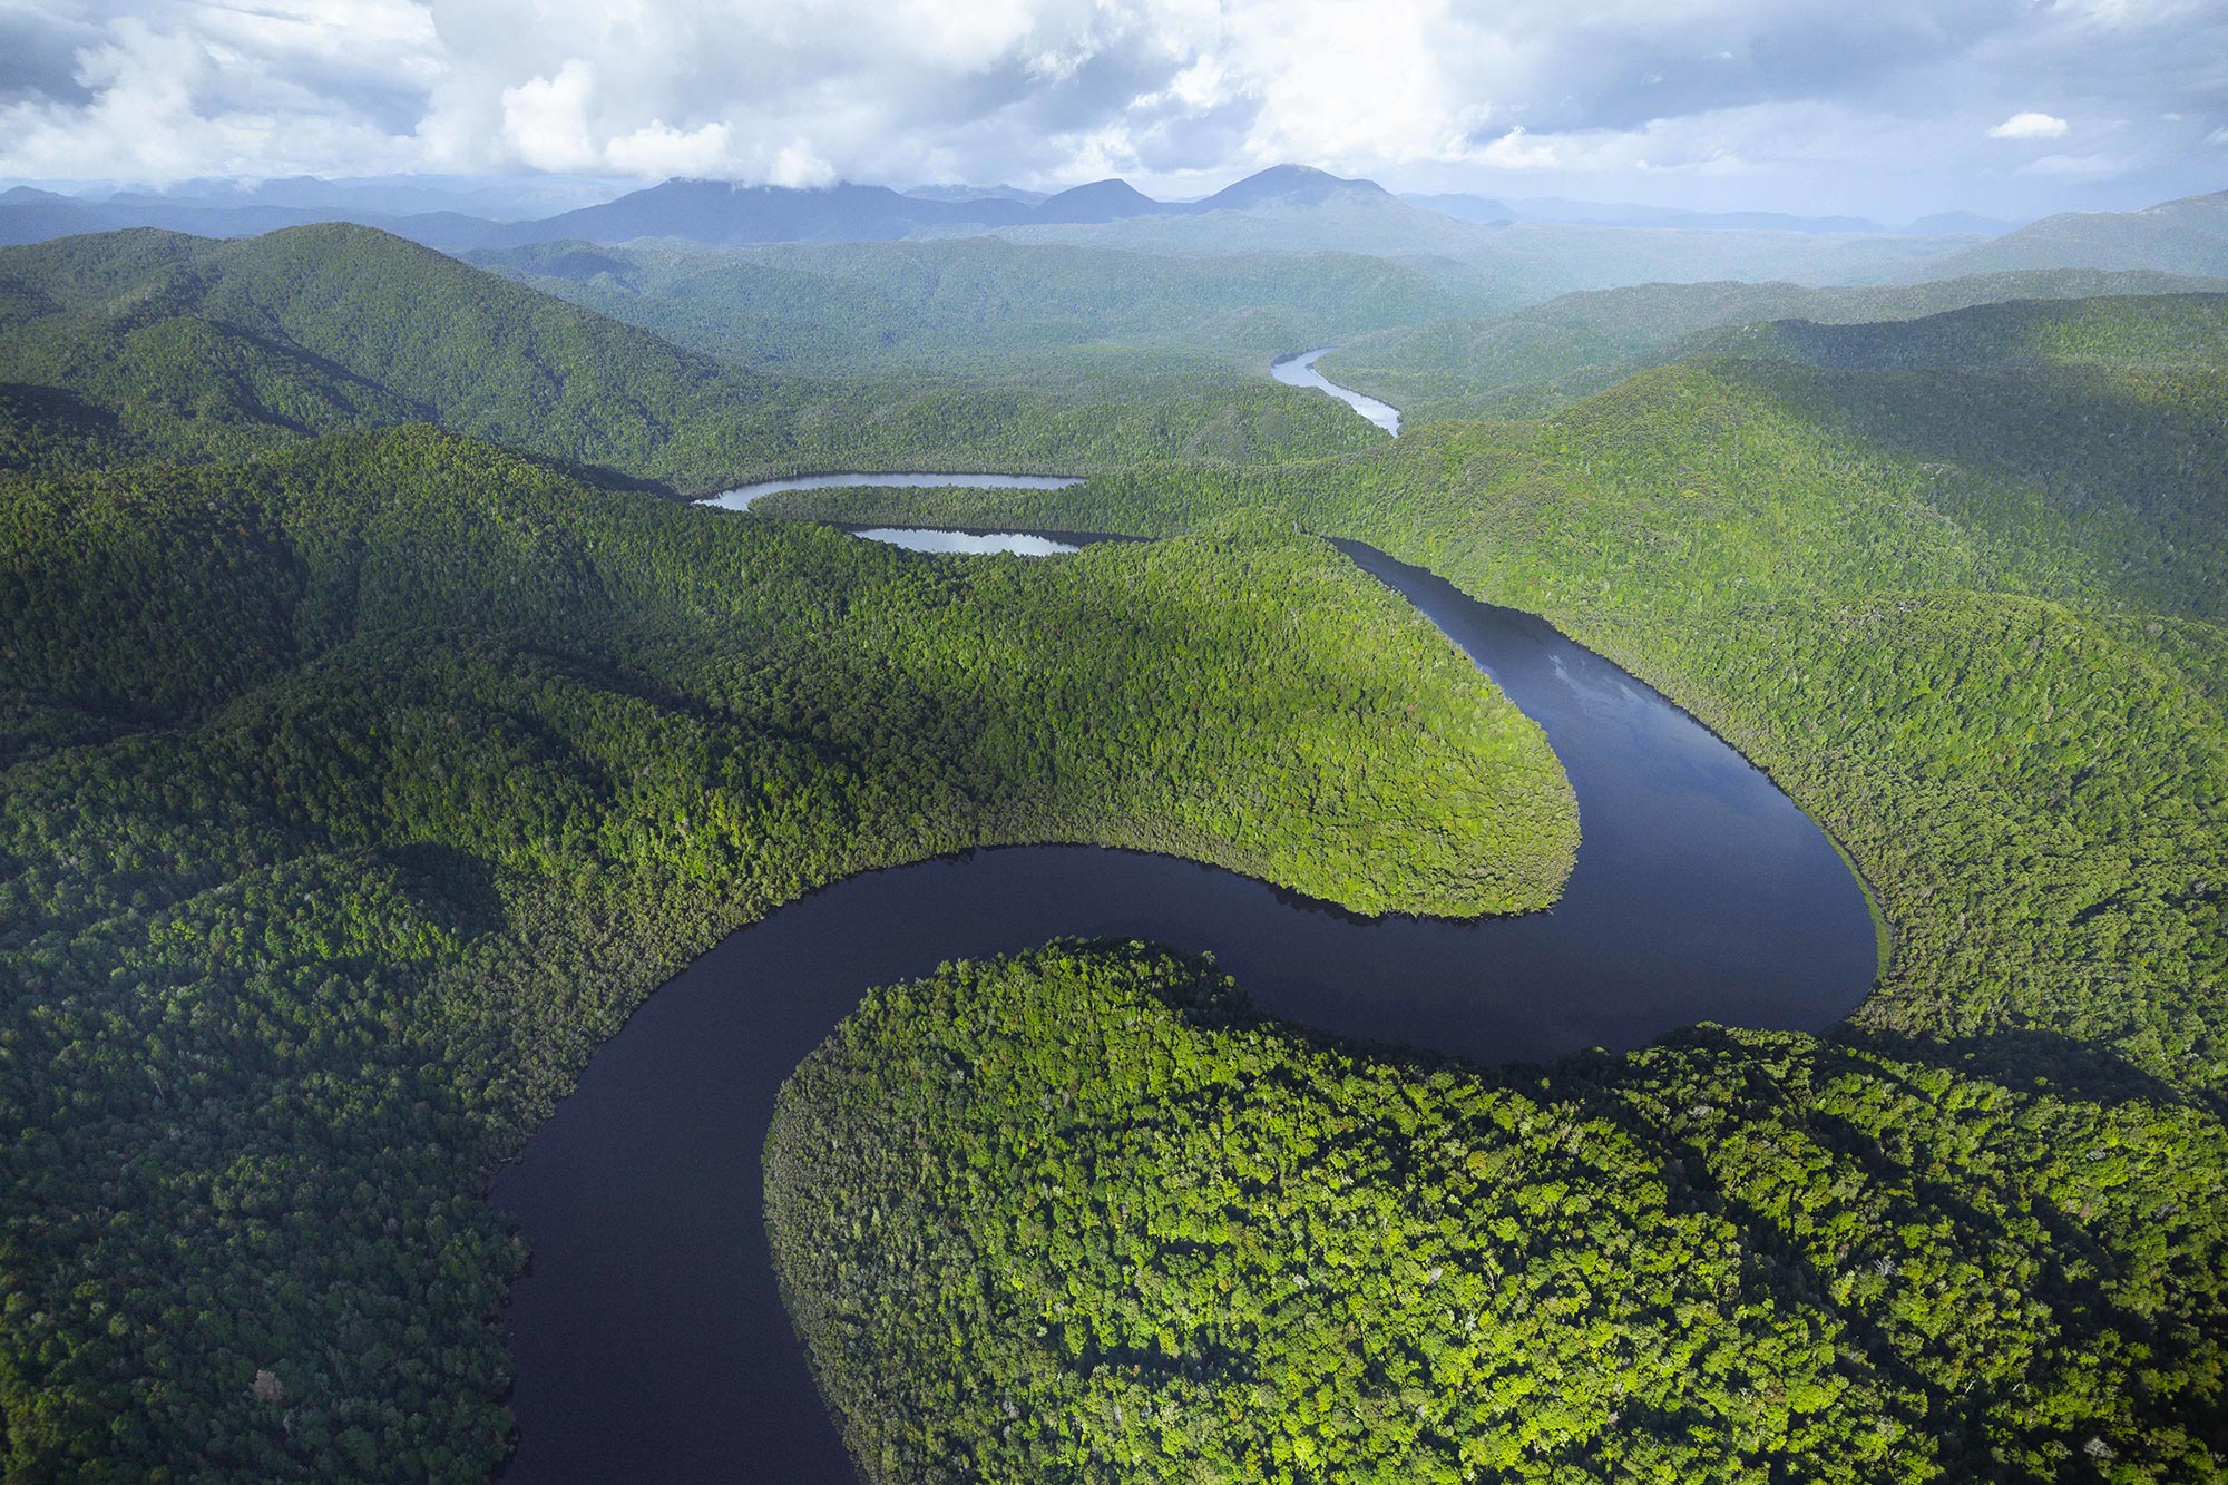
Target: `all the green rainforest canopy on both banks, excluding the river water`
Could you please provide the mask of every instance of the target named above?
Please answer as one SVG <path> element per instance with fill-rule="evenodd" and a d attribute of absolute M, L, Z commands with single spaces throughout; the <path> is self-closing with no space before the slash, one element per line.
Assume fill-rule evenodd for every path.
<path fill-rule="evenodd" d="M 958 334 L 853 256 L 793 303 Z M 711 346 L 749 297 L 700 288 Z M 2228 377 L 2217 299 L 2110 288 L 2150 297 L 1702 314 L 1386 441 L 1196 361 L 1110 404 L 1081 346 L 815 384 L 746 348 L 836 310 L 722 361 L 365 230 L 0 252 L 9 1476 L 483 1474 L 490 1166 L 811 885 L 1105 841 L 1551 903 L 1544 740 L 1339 535 L 1767 767 L 1874 885 L 1880 986 L 1522 1070 L 1152 945 L 880 990 L 769 1142 L 867 1474 L 2224 1478 Z M 1170 540 L 936 560 L 662 495 L 931 455 L 1101 477 L 762 504 Z"/>

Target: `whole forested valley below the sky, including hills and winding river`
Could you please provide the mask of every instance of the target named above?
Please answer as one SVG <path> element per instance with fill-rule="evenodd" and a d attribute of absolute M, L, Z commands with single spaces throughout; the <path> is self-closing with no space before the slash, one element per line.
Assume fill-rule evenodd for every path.
<path fill-rule="evenodd" d="M 2228 1478 L 2215 196 L 281 187 L 0 201 L 7 1481 Z"/>

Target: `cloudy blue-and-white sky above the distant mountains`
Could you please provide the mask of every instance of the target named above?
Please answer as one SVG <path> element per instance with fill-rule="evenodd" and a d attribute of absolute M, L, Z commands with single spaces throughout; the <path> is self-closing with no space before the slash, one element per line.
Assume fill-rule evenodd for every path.
<path fill-rule="evenodd" d="M 0 178 L 1127 176 L 1700 210 L 2228 187 L 2228 0 L 0 0 Z"/>

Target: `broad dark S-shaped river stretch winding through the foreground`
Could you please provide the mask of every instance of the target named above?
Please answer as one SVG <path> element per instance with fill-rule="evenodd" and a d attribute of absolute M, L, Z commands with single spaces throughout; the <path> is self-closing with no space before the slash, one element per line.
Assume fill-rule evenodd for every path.
<path fill-rule="evenodd" d="M 1259 881 L 1096 847 L 873 872 L 659 988 L 495 1182 L 532 1242 L 504 1313 L 506 1481 L 856 1478 L 775 1289 L 760 1148 L 791 1068 L 860 994 L 1058 934 L 1212 950 L 1270 1012 L 1493 1064 L 1693 1021 L 1823 1030 L 1876 972 L 1863 890 L 1758 769 L 1537 618 L 1346 549 L 1544 729 L 1582 845 L 1553 912 L 1359 921 Z"/>

